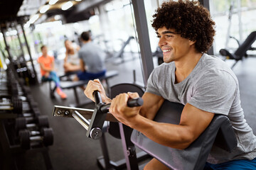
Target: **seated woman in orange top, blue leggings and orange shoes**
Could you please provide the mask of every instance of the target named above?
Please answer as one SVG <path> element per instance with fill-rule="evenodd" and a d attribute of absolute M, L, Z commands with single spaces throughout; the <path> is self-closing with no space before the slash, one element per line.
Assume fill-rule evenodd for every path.
<path fill-rule="evenodd" d="M 41 68 L 42 81 L 54 81 L 56 86 L 56 92 L 60 98 L 67 98 L 67 95 L 60 89 L 60 79 L 54 70 L 54 57 L 47 54 L 47 47 L 43 45 L 41 47 L 42 56 L 38 57 L 38 63 Z"/>

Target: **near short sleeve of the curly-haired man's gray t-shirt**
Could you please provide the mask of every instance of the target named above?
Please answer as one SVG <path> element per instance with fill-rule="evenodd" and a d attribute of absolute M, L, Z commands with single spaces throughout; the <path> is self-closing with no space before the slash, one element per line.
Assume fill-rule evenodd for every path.
<path fill-rule="evenodd" d="M 203 111 L 228 115 L 237 91 L 238 83 L 230 73 L 211 69 L 193 87 L 188 103 Z"/>

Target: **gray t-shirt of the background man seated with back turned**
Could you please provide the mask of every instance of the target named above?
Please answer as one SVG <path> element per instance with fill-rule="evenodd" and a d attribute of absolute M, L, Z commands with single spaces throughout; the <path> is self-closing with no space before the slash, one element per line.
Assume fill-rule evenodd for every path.
<path fill-rule="evenodd" d="M 85 63 L 87 72 L 98 73 L 105 70 L 105 53 L 98 45 L 92 42 L 82 45 L 78 52 L 78 57 Z"/>

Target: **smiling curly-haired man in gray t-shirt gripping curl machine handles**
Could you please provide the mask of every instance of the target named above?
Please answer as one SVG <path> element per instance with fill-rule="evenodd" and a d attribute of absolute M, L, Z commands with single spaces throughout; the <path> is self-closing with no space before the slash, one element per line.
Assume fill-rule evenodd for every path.
<path fill-rule="evenodd" d="M 256 169 L 256 137 L 244 119 L 238 79 L 225 62 L 204 53 L 215 35 L 210 13 L 198 2 L 179 0 L 162 4 L 153 17 L 165 63 L 151 73 L 142 96 L 144 105 L 127 107 L 129 98 L 138 97 L 136 93 L 119 94 L 111 101 L 99 80 L 89 82 L 85 95 L 93 100 L 92 91 L 100 91 L 120 122 L 177 149 L 191 145 L 215 114 L 228 115 L 238 146 L 232 153 L 213 147 L 206 169 Z M 153 121 L 165 99 L 184 105 L 179 125 Z M 144 169 L 167 167 L 152 159 Z"/>

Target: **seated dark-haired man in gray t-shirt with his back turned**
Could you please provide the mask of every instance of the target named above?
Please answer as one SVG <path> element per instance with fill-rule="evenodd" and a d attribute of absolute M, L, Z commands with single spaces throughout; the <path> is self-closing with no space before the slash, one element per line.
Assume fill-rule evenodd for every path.
<path fill-rule="evenodd" d="M 102 77 L 106 73 L 105 69 L 105 53 L 100 49 L 98 45 L 95 45 L 91 38 L 90 32 L 83 32 L 80 36 L 82 41 L 82 47 L 78 52 L 80 58 L 80 70 L 77 74 L 78 80 L 89 80 Z"/>

